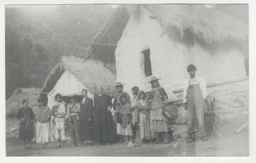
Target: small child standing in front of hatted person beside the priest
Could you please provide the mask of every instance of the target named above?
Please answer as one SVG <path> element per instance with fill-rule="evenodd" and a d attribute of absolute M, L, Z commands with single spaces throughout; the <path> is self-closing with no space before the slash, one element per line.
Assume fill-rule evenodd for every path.
<path fill-rule="evenodd" d="M 125 138 L 124 144 L 128 143 L 129 140 L 132 141 L 132 112 L 131 112 L 131 104 L 127 102 L 127 95 L 123 94 L 120 97 L 122 108 L 121 108 L 121 117 L 122 117 L 122 135 Z"/>

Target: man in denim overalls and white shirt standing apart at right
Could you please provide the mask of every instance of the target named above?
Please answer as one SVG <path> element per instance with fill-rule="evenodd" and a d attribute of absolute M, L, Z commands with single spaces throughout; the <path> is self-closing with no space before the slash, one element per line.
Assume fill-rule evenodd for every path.
<path fill-rule="evenodd" d="M 196 67 L 190 64 L 187 67 L 190 78 L 184 81 L 183 102 L 189 113 L 189 139 L 188 143 L 195 141 L 195 132 L 202 141 L 207 141 L 204 130 L 204 101 L 207 97 L 206 83 L 202 77 L 195 75 Z M 198 129 L 196 127 L 198 124 Z"/>

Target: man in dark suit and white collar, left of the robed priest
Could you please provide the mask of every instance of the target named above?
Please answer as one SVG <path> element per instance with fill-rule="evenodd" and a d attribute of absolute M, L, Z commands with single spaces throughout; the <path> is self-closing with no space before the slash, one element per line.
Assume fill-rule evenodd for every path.
<path fill-rule="evenodd" d="M 85 145 L 93 145 L 93 126 L 92 126 L 92 111 L 93 101 L 87 97 L 87 90 L 82 90 L 83 99 L 80 106 L 80 130 L 81 140 L 85 141 Z"/>

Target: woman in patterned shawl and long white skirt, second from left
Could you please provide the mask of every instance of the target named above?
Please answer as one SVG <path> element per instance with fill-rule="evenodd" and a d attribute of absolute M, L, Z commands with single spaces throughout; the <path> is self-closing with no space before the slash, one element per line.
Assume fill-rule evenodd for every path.
<path fill-rule="evenodd" d="M 45 99 L 38 99 L 39 108 L 35 119 L 37 120 L 36 123 L 36 143 L 42 144 L 43 148 L 48 148 L 47 143 L 49 141 L 54 141 L 52 136 L 52 129 L 50 125 L 50 118 L 51 118 L 51 110 L 48 106 L 46 106 Z"/>

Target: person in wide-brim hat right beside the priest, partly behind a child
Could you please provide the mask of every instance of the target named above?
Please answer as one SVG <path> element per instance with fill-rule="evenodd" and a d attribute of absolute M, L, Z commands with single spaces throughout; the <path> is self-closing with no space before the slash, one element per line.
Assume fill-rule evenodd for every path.
<path fill-rule="evenodd" d="M 121 111 L 121 106 L 122 106 L 121 101 L 120 101 L 121 95 L 126 94 L 126 100 L 128 103 L 130 103 L 130 96 L 128 95 L 128 93 L 123 91 L 123 88 L 124 88 L 123 83 L 117 82 L 115 87 L 117 88 L 117 94 L 114 97 L 113 109 L 115 110 L 116 116 L 119 117 L 119 116 L 121 116 L 120 111 Z M 122 128 L 121 128 L 121 123 L 119 121 L 117 122 L 117 134 L 119 134 L 121 136 L 121 140 L 119 141 L 119 143 L 123 143 L 124 137 L 122 136 Z"/>

